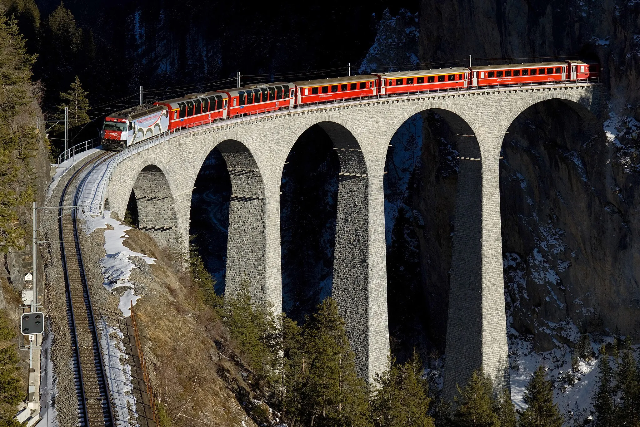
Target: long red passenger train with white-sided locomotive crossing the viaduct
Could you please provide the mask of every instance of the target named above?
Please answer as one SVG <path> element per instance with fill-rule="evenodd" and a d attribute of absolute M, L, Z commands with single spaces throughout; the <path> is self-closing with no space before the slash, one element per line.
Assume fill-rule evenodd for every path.
<path fill-rule="evenodd" d="M 291 83 L 250 84 L 243 88 L 189 93 L 183 98 L 118 111 L 104 120 L 102 146 L 106 149 L 124 148 L 166 130 L 315 102 L 440 89 L 580 81 L 596 77 L 600 77 L 598 63 L 564 61 L 438 68 Z"/>

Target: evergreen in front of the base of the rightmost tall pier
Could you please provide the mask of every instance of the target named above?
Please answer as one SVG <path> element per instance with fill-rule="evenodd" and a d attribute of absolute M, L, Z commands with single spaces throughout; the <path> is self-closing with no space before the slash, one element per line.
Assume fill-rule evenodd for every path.
<path fill-rule="evenodd" d="M 482 369 L 473 371 L 464 389 L 458 387 L 454 401 L 458 405 L 454 412 L 454 425 L 458 427 L 499 427 L 495 413 L 497 406 L 493 398 L 493 384 Z"/>

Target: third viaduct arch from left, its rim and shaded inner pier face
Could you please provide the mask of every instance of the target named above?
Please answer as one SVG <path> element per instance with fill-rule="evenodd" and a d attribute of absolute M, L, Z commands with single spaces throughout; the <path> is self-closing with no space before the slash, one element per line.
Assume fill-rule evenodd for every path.
<path fill-rule="evenodd" d="M 319 115 L 293 132 L 295 137 L 289 152 L 305 130 L 313 126 L 321 128 L 332 141 L 340 165 L 331 295 L 346 322 L 349 342 L 356 354 L 358 373 L 369 379 L 373 375 L 370 366 L 375 362 L 372 361 L 370 348 L 372 341 L 380 338 L 369 334 L 372 319 L 369 313 L 371 260 L 367 163 L 353 128 L 342 119 L 332 121 L 326 115 Z M 384 291 L 386 293 L 386 288 Z M 385 345 L 388 349 L 388 336 L 384 339 L 387 340 Z"/>

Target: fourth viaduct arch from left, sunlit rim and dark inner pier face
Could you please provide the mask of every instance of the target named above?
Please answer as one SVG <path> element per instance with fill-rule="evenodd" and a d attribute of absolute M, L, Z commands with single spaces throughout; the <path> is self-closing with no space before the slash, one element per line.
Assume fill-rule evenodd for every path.
<path fill-rule="evenodd" d="M 451 399 L 456 384 L 466 384 L 472 371 L 487 362 L 483 354 L 483 153 L 472 118 L 446 102 L 426 102 L 409 109 L 394 123 L 392 131 L 396 132 L 414 114 L 427 112 L 438 114 L 447 123 L 447 141 L 458 151 L 449 295 L 447 298 L 434 291 L 433 298 L 438 301 L 431 301 L 446 306 L 444 393 Z M 425 228 L 428 226 L 425 224 Z M 446 288 L 439 287 L 438 291 L 446 293 Z M 440 323 L 442 327 L 444 322 Z"/>

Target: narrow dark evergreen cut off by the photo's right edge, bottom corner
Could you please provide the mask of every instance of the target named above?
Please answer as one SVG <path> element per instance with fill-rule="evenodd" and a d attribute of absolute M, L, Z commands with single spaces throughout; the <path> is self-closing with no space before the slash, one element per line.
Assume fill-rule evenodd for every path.
<path fill-rule="evenodd" d="M 618 425 L 640 426 L 640 378 L 630 336 L 625 338 L 616 378 L 620 387 Z"/>

